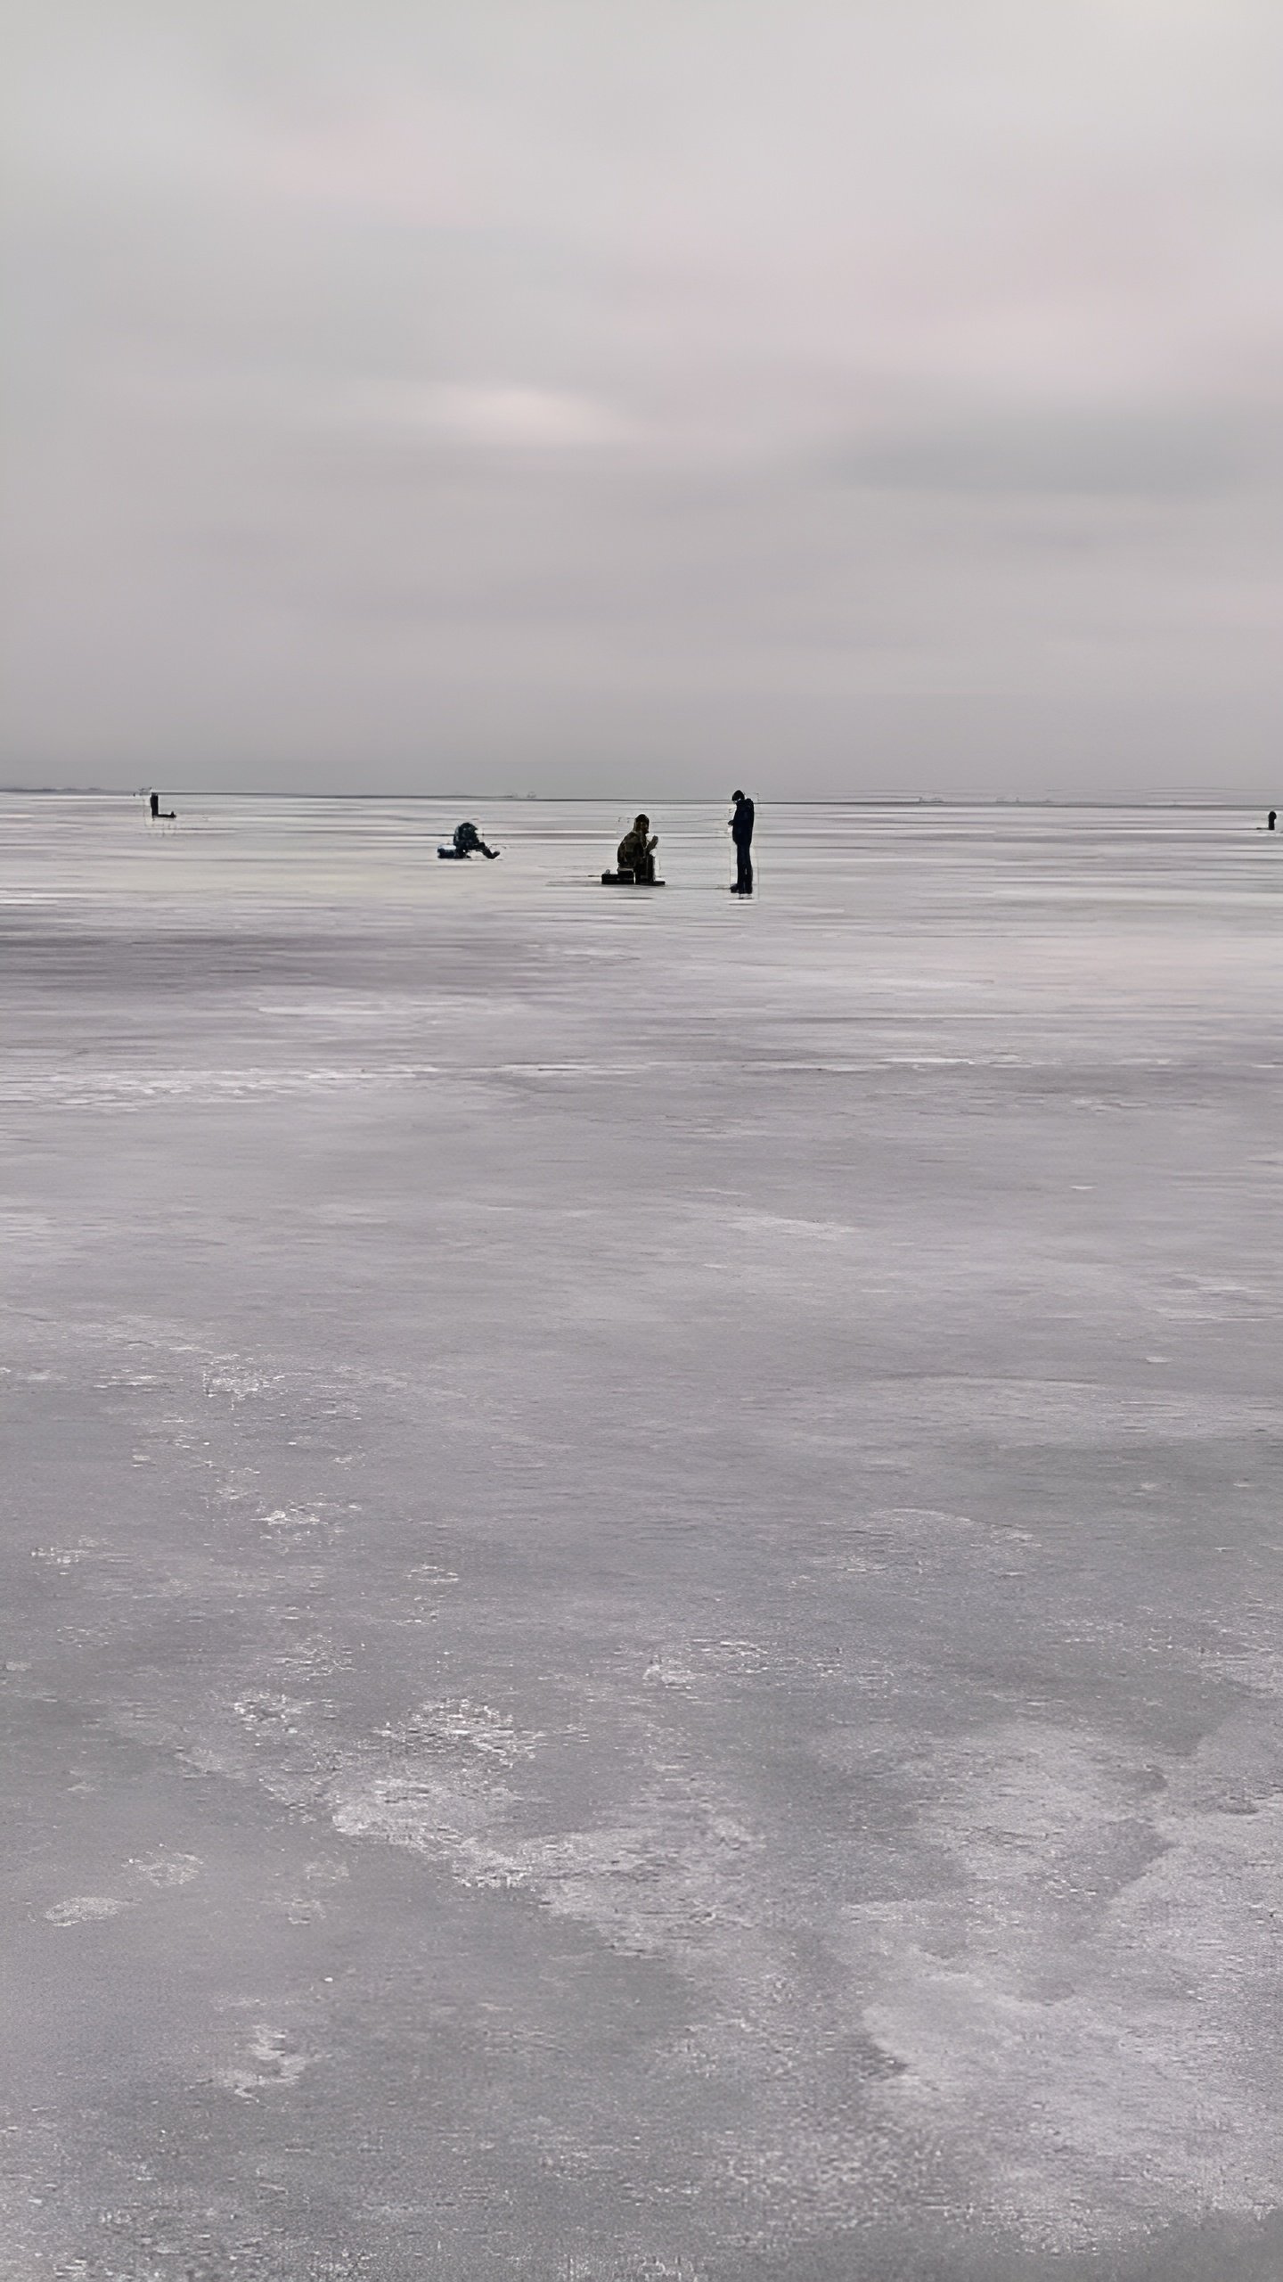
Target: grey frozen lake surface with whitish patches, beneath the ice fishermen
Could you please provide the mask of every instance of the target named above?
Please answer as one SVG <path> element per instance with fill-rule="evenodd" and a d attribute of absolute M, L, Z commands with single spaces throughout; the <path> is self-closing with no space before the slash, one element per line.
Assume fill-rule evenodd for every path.
<path fill-rule="evenodd" d="M 1283 847 L 0 801 L 2 2282 L 1276 2282 Z"/>

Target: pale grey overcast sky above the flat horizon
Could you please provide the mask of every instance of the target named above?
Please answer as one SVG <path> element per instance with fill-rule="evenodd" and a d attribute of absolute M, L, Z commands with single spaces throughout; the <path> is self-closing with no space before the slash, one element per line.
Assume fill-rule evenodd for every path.
<path fill-rule="evenodd" d="M 0 778 L 1283 794 L 1278 0 L 7 21 Z"/>

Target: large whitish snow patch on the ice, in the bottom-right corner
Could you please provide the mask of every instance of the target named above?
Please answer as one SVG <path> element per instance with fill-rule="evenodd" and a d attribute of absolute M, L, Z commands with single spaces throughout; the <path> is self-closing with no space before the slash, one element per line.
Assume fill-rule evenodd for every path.
<path fill-rule="evenodd" d="M 897 2111 L 966 2147 L 1043 2248 L 1272 2209 L 1242 2031 L 1274 2001 L 1283 1803 L 1272 1832 L 1224 1800 L 1173 1812 L 1157 1769 L 1032 1723 L 943 1746 L 931 1791 L 945 1885 L 847 1910 L 863 2017 L 906 2070 Z"/>

